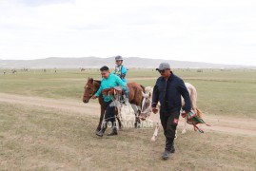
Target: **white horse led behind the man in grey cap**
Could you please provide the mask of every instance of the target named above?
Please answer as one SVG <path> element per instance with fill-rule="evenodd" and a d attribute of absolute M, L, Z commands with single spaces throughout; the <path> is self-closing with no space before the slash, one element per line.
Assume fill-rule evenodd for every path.
<path fill-rule="evenodd" d="M 195 86 L 191 85 L 189 83 L 185 83 L 185 85 L 187 86 L 187 91 L 189 93 L 189 98 L 190 98 L 190 103 L 191 103 L 192 110 L 195 112 L 195 114 L 199 118 L 202 118 L 203 117 L 203 112 L 196 105 L 197 91 L 196 91 Z M 143 95 L 144 98 L 143 98 L 143 104 L 142 104 L 142 111 L 141 111 L 141 115 L 140 115 L 141 120 L 147 120 L 149 118 L 151 112 L 152 112 L 152 110 L 151 110 L 152 92 L 153 92 L 153 88 L 151 86 L 147 86 L 145 88 L 145 93 L 142 92 L 142 95 Z M 185 104 L 184 98 L 182 96 L 181 96 L 181 98 L 182 98 L 182 106 L 184 106 L 184 104 Z M 159 129 L 159 123 L 160 123 L 160 121 L 156 123 L 154 134 L 151 138 L 152 142 L 154 142 L 155 138 L 157 137 L 158 129 Z M 197 130 L 197 128 L 195 126 L 194 126 L 194 130 L 195 131 Z M 186 131 L 187 131 L 187 121 L 186 121 L 186 118 L 185 118 L 185 120 L 184 120 L 184 129 L 182 131 L 182 134 L 185 134 Z"/>

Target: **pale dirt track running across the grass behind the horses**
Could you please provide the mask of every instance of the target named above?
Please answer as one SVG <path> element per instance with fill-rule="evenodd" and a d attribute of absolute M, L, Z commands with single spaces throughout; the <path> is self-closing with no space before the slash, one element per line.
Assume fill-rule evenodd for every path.
<path fill-rule="evenodd" d="M 100 107 L 99 104 L 83 104 L 82 100 L 53 100 L 41 97 L 28 97 L 22 95 L 13 95 L 7 93 L 0 93 L 0 102 L 10 104 L 23 104 L 27 106 L 41 106 L 48 107 L 54 110 L 69 111 L 70 115 L 82 114 L 82 115 L 93 115 L 99 116 Z M 150 120 L 158 122 L 159 117 L 153 115 Z M 228 134 L 239 134 L 247 136 L 256 136 L 256 123 L 252 119 L 233 119 L 230 117 L 218 117 L 214 115 L 205 116 L 205 121 L 212 124 L 208 127 L 203 125 L 202 128 L 206 132 L 222 132 Z M 183 126 L 184 120 L 181 119 L 179 126 Z M 192 126 L 187 126 L 191 129 Z"/>

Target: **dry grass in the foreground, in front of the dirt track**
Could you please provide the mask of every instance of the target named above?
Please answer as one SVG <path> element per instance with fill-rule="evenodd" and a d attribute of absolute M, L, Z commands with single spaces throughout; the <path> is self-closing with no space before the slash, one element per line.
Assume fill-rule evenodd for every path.
<path fill-rule="evenodd" d="M 1 170 L 254 170 L 255 137 L 189 131 L 168 160 L 161 129 L 125 129 L 98 138 L 98 117 L 0 103 Z M 109 130 L 108 130 L 109 131 Z M 180 130 L 179 130 L 180 131 Z"/>

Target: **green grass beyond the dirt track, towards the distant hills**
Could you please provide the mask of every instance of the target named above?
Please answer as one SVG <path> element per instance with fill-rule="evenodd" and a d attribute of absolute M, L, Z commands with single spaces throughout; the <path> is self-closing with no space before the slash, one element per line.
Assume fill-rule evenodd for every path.
<path fill-rule="evenodd" d="M 195 85 L 198 106 L 205 113 L 219 116 L 256 118 L 256 70 L 249 69 L 173 69 L 174 73 Z M 154 69 L 129 69 L 128 81 L 155 84 L 159 73 Z M 98 69 L 42 69 L 0 75 L 0 92 L 54 99 L 81 99 L 88 77 L 100 79 Z M 138 78 L 142 78 L 141 80 Z M 144 78 L 149 78 L 143 80 Z M 151 79 L 150 79 L 151 78 Z"/>

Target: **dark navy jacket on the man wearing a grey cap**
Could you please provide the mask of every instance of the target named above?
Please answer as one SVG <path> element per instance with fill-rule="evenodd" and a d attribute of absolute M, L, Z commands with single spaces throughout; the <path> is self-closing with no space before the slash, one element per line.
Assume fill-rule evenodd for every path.
<path fill-rule="evenodd" d="M 171 72 L 167 81 L 162 76 L 157 79 L 153 89 L 151 106 L 155 107 L 159 101 L 161 104 L 160 110 L 162 112 L 171 113 L 180 111 L 182 107 L 181 96 L 183 96 L 185 100 L 183 109 L 190 111 L 191 104 L 187 87 L 181 78 Z"/>

